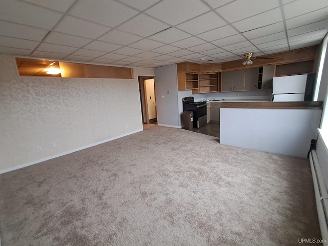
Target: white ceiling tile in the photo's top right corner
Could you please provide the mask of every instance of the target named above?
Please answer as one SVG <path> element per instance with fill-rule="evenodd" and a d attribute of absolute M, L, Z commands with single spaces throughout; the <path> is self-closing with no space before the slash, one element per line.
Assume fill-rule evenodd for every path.
<path fill-rule="evenodd" d="M 325 0 L 311 1 L 311 3 L 308 0 L 298 0 L 283 5 L 283 11 L 285 18 L 289 19 L 326 7 L 328 7 L 328 2 Z"/>

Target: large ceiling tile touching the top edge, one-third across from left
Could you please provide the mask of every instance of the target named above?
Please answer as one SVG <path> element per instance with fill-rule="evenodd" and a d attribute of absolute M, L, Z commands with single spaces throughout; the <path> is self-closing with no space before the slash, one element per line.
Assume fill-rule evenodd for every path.
<path fill-rule="evenodd" d="M 70 15 L 108 27 L 116 27 L 136 14 L 138 11 L 113 0 L 79 0 L 70 11 Z"/>

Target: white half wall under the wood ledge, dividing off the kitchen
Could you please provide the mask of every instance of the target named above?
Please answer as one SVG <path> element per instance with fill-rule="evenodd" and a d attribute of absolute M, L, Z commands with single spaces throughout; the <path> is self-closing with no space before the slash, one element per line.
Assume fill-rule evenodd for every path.
<path fill-rule="evenodd" d="M 306 158 L 321 109 L 220 110 L 220 144 Z"/>

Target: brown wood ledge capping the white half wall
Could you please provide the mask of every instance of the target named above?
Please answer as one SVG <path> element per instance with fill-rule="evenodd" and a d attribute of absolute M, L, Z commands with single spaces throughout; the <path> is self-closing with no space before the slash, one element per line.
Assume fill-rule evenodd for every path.
<path fill-rule="evenodd" d="M 238 109 L 322 109 L 323 101 L 224 101 L 220 107 Z"/>

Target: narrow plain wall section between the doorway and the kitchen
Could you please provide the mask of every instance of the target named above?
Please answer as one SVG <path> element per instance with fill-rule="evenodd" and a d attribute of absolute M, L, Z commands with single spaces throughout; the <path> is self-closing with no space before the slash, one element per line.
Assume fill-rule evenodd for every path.
<path fill-rule="evenodd" d="M 158 67 L 154 70 L 157 125 L 179 128 L 180 115 L 176 64 Z"/>

